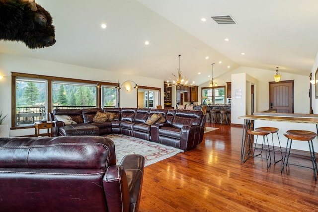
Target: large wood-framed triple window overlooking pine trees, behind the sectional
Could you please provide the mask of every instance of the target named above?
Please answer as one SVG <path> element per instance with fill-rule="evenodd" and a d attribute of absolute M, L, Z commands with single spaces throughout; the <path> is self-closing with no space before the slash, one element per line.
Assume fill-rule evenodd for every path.
<path fill-rule="evenodd" d="M 119 107 L 119 91 L 112 83 L 17 72 L 11 75 L 11 129 L 33 128 L 34 122 L 48 120 L 53 109 Z"/>

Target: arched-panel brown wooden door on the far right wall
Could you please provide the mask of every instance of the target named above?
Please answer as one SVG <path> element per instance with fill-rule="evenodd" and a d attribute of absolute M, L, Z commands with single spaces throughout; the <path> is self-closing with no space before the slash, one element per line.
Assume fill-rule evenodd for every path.
<path fill-rule="evenodd" d="M 269 109 L 294 113 L 294 80 L 269 82 Z"/>

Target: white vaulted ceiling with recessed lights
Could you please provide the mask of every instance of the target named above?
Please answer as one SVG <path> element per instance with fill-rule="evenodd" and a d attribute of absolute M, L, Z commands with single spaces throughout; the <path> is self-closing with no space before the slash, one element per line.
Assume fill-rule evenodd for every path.
<path fill-rule="evenodd" d="M 31 50 L 0 41 L 0 53 L 162 80 L 177 73 L 181 54 L 181 71 L 199 85 L 212 63 L 214 78 L 240 66 L 309 75 L 318 51 L 318 0 L 36 2 L 53 17 L 56 44 Z M 237 24 L 217 24 L 217 15 Z"/>

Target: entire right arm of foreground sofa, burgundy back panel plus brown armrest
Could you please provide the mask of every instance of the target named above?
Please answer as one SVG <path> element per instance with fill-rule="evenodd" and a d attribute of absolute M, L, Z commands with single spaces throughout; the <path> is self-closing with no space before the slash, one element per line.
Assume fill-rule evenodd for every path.
<path fill-rule="evenodd" d="M 126 155 L 120 165 L 109 166 L 103 178 L 109 212 L 137 212 L 144 177 L 145 158 Z"/>

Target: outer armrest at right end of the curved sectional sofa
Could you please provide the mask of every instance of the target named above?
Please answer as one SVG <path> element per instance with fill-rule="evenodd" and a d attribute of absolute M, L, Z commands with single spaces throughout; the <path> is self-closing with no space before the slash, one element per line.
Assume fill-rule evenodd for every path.
<path fill-rule="evenodd" d="M 180 149 L 187 151 L 202 142 L 204 128 L 200 125 L 184 125 L 180 133 Z"/>

